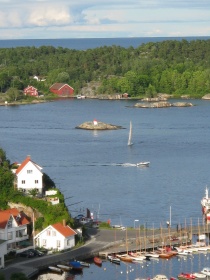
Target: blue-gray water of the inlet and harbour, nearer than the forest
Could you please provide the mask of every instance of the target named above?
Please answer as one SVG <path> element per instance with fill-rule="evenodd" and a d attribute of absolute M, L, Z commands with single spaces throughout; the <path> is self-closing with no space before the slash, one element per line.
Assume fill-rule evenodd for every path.
<path fill-rule="evenodd" d="M 171 209 L 172 226 L 191 220 L 197 224 L 202 218 L 200 200 L 209 185 L 210 101 L 188 102 L 196 106 L 137 109 L 136 101 L 91 99 L 1 106 L 0 147 L 11 162 L 31 155 L 63 192 L 73 216 L 89 208 L 112 224 L 134 226 L 139 220 L 159 227 L 165 226 Z M 95 118 L 125 129 L 75 128 Z M 139 161 L 150 161 L 150 166 L 136 167 Z M 208 254 L 131 267 L 104 263 L 102 268 L 91 265 L 76 279 L 177 276 L 208 264 Z"/>

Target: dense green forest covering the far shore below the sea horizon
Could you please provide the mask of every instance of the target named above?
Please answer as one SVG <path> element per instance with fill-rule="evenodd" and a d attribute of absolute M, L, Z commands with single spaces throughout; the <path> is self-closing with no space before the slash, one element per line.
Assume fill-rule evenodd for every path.
<path fill-rule="evenodd" d="M 33 76 L 41 76 L 37 82 Z M 200 98 L 210 93 L 210 40 L 142 44 L 138 48 L 100 47 L 85 51 L 52 46 L 0 49 L 0 91 L 14 97 L 33 85 L 45 96 L 55 83 L 79 94 L 97 84 L 96 94 L 127 92 L 131 97 L 157 93 Z"/>

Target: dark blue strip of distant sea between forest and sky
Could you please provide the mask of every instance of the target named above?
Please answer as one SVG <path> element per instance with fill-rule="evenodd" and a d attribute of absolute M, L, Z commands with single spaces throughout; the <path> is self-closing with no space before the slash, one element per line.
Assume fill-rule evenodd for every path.
<path fill-rule="evenodd" d="M 165 40 L 208 40 L 210 36 L 203 37 L 131 37 L 131 38 L 77 38 L 77 39 L 15 39 L 0 40 L 0 48 L 41 47 L 53 46 L 76 50 L 94 49 L 103 46 L 121 46 L 124 48 L 137 48 L 149 42 L 162 42 Z"/>

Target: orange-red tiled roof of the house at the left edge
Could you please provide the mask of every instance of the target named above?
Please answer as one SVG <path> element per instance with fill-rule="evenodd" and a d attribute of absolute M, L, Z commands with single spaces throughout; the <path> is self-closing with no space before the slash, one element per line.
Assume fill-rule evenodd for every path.
<path fill-rule="evenodd" d="M 27 225 L 30 223 L 30 221 L 16 208 L 11 208 L 7 210 L 0 210 L 0 228 L 6 227 L 11 215 L 15 218 L 18 226 Z"/>

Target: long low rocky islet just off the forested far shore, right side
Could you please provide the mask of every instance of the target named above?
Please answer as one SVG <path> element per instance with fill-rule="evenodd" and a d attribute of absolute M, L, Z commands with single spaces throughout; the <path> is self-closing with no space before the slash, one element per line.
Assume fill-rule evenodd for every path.
<path fill-rule="evenodd" d="M 136 103 L 134 107 L 137 108 L 168 108 L 168 107 L 191 107 L 193 106 L 192 103 L 188 102 L 175 102 L 175 103 L 169 103 L 165 101 L 161 102 L 153 102 L 153 103 Z"/>

